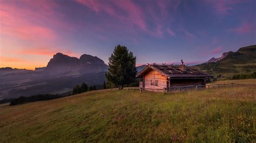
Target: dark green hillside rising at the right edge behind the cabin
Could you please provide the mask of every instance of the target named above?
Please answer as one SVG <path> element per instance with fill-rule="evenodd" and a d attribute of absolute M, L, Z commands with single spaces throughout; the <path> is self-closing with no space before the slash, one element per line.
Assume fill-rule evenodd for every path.
<path fill-rule="evenodd" d="M 227 77 L 238 73 L 252 73 L 256 71 L 256 45 L 242 47 L 237 52 L 228 53 L 220 61 L 202 63 L 196 67 L 215 77 L 219 74 Z"/>

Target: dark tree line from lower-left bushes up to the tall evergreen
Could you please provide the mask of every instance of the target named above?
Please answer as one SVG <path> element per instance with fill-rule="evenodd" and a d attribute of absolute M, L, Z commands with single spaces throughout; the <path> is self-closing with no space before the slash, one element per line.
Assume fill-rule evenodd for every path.
<path fill-rule="evenodd" d="M 139 81 L 136 80 L 136 74 L 136 56 L 133 56 L 133 53 L 130 52 L 127 47 L 117 45 L 114 47 L 114 51 L 109 58 L 109 71 L 105 73 L 107 82 L 104 81 L 103 85 L 99 85 L 99 87 L 101 87 L 99 89 L 116 87 L 123 89 L 123 87 L 138 86 Z M 76 85 L 73 87 L 71 93 L 72 95 L 75 95 L 92 90 L 97 90 L 96 85 L 88 87 L 87 84 L 82 83 L 82 85 Z M 39 94 L 29 97 L 21 96 L 11 99 L 10 105 L 17 105 L 26 102 L 45 101 L 61 97 L 65 96 L 53 94 Z"/>

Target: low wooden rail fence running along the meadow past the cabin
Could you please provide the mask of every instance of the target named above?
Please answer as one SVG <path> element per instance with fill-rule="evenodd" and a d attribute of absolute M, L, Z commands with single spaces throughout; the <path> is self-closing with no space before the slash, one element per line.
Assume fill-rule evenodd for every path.
<path fill-rule="evenodd" d="M 153 92 L 181 92 L 181 91 L 188 91 L 188 90 L 207 90 L 207 89 L 216 89 L 216 88 L 228 88 L 228 87 L 240 87 L 246 84 L 240 83 L 227 83 L 227 84 L 209 84 L 209 85 L 187 85 L 187 86 L 174 86 L 169 88 L 163 89 L 143 89 L 143 88 L 134 88 L 128 87 L 127 91 L 133 92 L 143 92 L 143 91 L 153 91 Z"/>

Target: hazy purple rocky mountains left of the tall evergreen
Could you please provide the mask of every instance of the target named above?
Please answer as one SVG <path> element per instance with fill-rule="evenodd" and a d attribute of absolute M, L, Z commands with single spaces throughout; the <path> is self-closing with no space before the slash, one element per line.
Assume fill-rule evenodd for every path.
<path fill-rule="evenodd" d="M 35 70 L 0 68 L 0 99 L 58 94 L 83 82 L 103 84 L 108 67 L 97 56 L 84 54 L 78 59 L 57 53 L 46 67 Z"/>

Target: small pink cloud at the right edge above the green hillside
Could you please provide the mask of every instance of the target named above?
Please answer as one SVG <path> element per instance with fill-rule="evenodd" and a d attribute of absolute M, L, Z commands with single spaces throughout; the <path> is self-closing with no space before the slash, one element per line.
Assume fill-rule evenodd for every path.
<path fill-rule="evenodd" d="M 256 32 L 256 27 L 255 27 L 255 23 L 244 22 L 239 27 L 230 28 L 227 31 L 244 34 L 244 33 Z"/>

